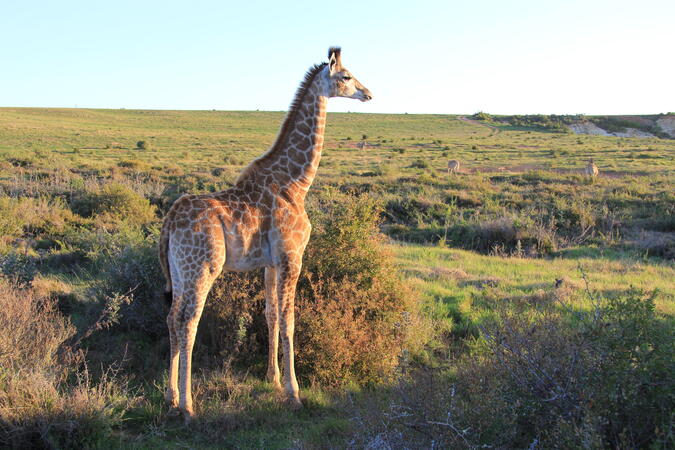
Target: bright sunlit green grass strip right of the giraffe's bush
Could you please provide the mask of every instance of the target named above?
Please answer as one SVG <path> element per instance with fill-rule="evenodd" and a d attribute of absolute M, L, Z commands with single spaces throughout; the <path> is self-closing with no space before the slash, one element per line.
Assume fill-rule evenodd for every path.
<path fill-rule="evenodd" d="M 478 320 L 483 311 L 475 308 L 472 300 L 484 295 L 486 289 L 504 298 L 525 296 L 541 289 L 553 290 L 558 279 L 578 289 L 585 289 L 588 281 L 589 289 L 605 297 L 631 287 L 658 289 L 662 297 L 657 311 L 675 315 L 675 266 L 658 259 L 641 260 L 634 254 L 612 251 L 603 254 L 595 248 L 575 249 L 587 256 L 543 261 L 412 244 L 393 245 L 393 249 L 407 280 L 422 292 L 430 308 L 438 308 L 454 320 Z"/>

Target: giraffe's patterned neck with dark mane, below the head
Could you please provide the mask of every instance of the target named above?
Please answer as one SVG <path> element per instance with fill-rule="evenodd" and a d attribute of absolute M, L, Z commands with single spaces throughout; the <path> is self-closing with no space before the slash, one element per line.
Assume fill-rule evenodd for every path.
<path fill-rule="evenodd" d="M 241 181 L 258 171 L 271 173 L 265 183 L 275 185 L 275 189 L 292 198 L 304 199 L 316 176 L 323 149 L 328 103 L 323 69 L 316 67 L 315 73 L 307 74 L 276 142 L 249 166 L 250 170 L 244 171 Z"/>

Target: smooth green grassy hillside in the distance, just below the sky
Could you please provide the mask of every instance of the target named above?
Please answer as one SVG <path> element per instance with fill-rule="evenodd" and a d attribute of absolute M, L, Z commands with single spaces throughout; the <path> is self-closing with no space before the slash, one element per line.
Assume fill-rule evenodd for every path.
<path fill-rule="evenodd" d="M 137 159 L 151 166 L 178 164 L 204 171 L 226 165 L 225 156 L 246 164 L 273 142 L 283 117 L 281 112 L 0 108 L 0 154 L 53 157 L 78 168 Z M 358 151 L 356 143 L 363 134 L 370 146 Z M 149 142 L 151 149 L 136 149 L 140 140 Z M 405 153 L 394 151 L 399 148 Z M 329 164 L 320 172 L 324 178 L 372 170 L 383 162 L 402 173 L 416 173 L 405 168 L 420 157 L 443 170 L 448 159 L 443 152 L 460 159 L 465 169 L 480 171 L 523 166 L 581 169 L 584 159 L 593 158 L 601 171 L 664 173 L 675 158 L 668 140 L 517 130 L 495 134 L 447 115 L 331 113 L 325 150 L 324 162 Z"/>

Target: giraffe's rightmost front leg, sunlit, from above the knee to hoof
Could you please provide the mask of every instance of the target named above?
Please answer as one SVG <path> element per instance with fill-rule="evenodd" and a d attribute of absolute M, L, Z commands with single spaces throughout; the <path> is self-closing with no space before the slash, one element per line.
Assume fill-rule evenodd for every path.
<path fill-rule="evenodd" d="M 301 260 L 290 261 L 277 267 L 277 292 L 279 295 L 279 318 L 281 341 L 284 349 L 284 387 L 288 400 L 294 407 L 302 407 L 298 381 L 295 379 L 293 362 L 293 333 L 295 330 L 295 288 L 300 276 Z"/>

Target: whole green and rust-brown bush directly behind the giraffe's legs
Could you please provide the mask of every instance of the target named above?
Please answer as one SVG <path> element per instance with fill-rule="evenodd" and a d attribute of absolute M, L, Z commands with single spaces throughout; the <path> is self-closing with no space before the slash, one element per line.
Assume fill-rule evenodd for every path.
<path fill-rule="evenodd" d="M 404 349 L 428 338 L 382 246 L 380 211 L 365 195 L 327 192 L 314 204 L 315 228 L 296 295 L 297 372 L 305 380 L 381 382 L 393 375 Z M 203 345 L 195 348 L 199 357 L 262 363 L 267 326 L 261 274 L 225 273 L 210 297 L 198 337 Z"/>

